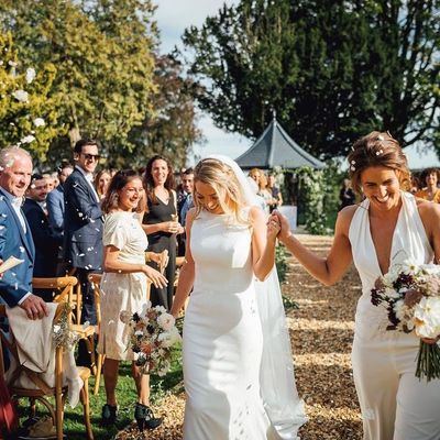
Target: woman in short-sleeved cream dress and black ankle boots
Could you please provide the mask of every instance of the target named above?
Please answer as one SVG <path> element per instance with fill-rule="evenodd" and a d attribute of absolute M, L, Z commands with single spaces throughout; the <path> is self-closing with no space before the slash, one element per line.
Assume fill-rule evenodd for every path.
<path fill-rule="evenodd" d="M 106 355 L 103 377 L 107 403 L 102 425 L 113 425 L 118 417 L 116 387 L 120 361 L 133 361 L 132 374 L 138 391 L 134 418 L 141 429 L 161 425 L 150 405 L 150 375 L 142 374 L 129 344 L 129 329 L 120 320 L 123 310 L 141 312 L 146 304 L 146 278 L 165 287 L 166 278 L 145 264 L 148 244 L 141 227 L 143 184 L 133 170 L 120 170 L 110 182 L 102 200 L 107 213 L 103 226 L 103 275 L 101 280 L 101 324 L 98 351 Z"/>

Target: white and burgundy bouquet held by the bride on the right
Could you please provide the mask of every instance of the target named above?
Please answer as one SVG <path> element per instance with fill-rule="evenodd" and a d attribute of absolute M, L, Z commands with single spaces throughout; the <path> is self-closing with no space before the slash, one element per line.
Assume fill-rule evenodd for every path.
<path fill-rule="evenodd" d="M 387 330 L 414 331 L 420 338 L 416 376 L 440 378 L 440 346 L 421 340 L 440 336 L 440 266 L 394 265 L 376 279 L 371 294 L 372 304 L 383 304 L 388 311 Z"/>

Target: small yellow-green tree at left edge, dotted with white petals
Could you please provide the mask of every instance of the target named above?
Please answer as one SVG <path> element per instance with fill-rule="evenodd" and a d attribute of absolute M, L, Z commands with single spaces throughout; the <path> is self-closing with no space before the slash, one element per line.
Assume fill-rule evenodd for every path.
<path fill-rule="evenodd" d="M 57 102 L 47 96 L 55 75 L 52 64 L 24 69 L 12 35 L 0 34 L 0 148 L 22 145 L 45 160 L 51 141 L 64 134 Z"/>

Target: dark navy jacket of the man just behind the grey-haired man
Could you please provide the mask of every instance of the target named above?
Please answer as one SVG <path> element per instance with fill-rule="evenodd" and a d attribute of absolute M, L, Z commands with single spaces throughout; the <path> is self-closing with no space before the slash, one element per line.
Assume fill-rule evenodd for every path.
<path fill-rule="evenodd" d="M 63 244 L 63 237 L 55 234 L 48 224 L 47 216 L 35 200 L 26 199 L 23 205 L 23 212 L 26 216 L 35 244 L 33 276 L 56 276 L 57 256 Z"/>

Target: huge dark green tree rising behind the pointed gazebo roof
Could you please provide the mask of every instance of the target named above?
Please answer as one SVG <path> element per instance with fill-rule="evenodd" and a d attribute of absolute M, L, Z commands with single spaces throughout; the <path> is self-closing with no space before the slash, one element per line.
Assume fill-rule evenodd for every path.
<path fill-rule="evenodd" d="M 272 109 L 323 158 L 374 129 L 439 147 L 439 0 L 242 0 L 185 31 L 196 98 L 255 139 Z"/>

